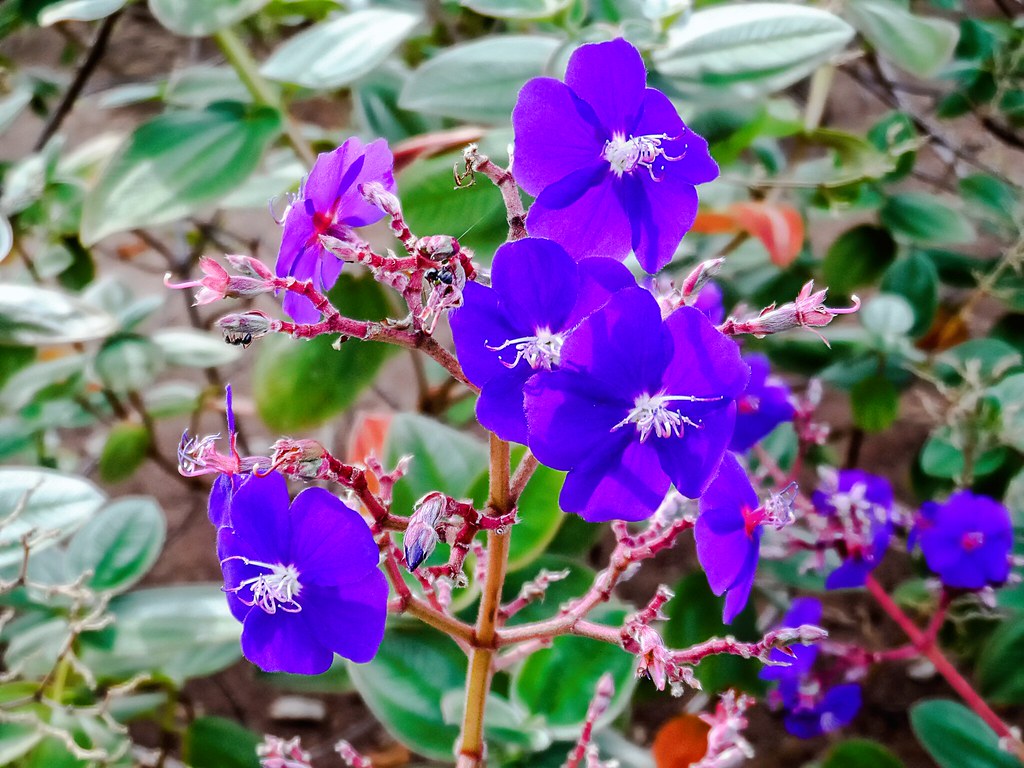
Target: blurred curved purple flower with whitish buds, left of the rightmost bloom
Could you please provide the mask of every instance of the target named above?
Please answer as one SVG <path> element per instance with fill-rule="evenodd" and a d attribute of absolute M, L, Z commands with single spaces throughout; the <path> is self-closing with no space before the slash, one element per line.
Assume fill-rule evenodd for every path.
<path fill-rule="evenodd" d="M 819 539 L 843 558 L 825 579 L 830 590 L 862 587 L 882 561 L 892 537 L 893 489 L 884 477 L 847 469 L 814 492 Z"/>

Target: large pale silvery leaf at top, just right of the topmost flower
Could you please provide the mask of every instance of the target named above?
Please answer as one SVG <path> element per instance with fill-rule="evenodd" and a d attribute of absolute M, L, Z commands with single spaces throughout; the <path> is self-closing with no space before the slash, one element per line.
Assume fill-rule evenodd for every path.
<path fill-rule="evenodd" d="M 817 8 L 730 4 L 674 25 L 653 58 L 657 72 L 684 91 L 729 89 L 754 97 L 803 79 L 852 38 L 846 22 Z"/>

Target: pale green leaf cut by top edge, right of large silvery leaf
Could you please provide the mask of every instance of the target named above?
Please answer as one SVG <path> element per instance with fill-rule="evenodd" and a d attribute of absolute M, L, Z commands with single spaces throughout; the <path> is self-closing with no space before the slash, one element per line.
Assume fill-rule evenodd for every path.
<path fill-rule="evenodd" d="M 920 78 L 932 77 L 945 67 L 959 39 L 956 25 L 915 15 L 887 0 L 851 0 L 846 12 L 883 56 Z"/>

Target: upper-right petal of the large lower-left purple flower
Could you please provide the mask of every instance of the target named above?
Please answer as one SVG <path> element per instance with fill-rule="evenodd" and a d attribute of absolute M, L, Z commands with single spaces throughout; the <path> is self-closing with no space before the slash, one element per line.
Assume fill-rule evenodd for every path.
<path fill-rule="evenodd" d="M 359 513 L 324 488 L 306 488 L 292 502 L 292 547 L 288 562 L 299 582 L 350 584 L 376 569 L 380 550 Z"/>

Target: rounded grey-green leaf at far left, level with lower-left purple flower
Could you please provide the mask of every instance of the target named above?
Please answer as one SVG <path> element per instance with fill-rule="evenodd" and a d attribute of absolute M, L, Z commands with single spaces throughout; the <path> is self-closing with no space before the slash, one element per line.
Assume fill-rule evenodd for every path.
<path fill-rule="evenodd" d="M 92 571 L 87 584 L 101 592 L 124 592 L 153 567 L 164 547 L 167 523 L 156 500 L 125 497 L 108 505 L 68 544 L 73 577 Z"/>

